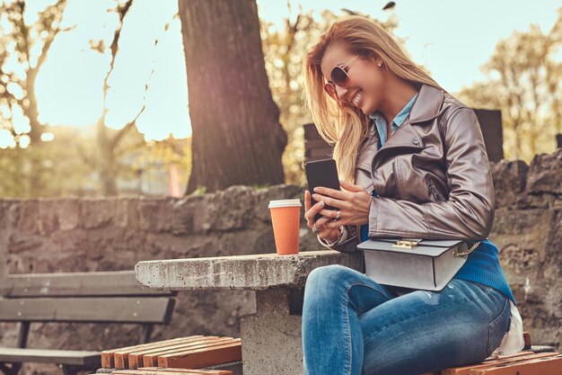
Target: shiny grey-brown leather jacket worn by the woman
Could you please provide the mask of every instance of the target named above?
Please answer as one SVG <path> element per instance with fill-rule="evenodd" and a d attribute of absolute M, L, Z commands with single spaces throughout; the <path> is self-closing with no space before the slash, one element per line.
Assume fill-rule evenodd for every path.
<path fill-rule="evenodd" d="M 360 146 L 355 183 L 373 190 L 369 237 L 476 241 L 488 236 L 494 186 L 474 111 L 451 94 L 422 85 L 408 117 L 379 147 L 373 121 Z M 356 252 L 360 226 L 329 248 Z"/>

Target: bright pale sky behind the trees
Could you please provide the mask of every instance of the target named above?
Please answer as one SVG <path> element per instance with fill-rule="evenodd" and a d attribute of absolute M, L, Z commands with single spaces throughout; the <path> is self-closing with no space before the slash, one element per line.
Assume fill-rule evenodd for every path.
<path fill-rule="evenodd" d="M 28 1 L 38 9 L 52 0 Z M 296 2 L 294 10 L 296 10 Z M 398 17 L 397 35 L 406 39 L 414 60 L 428 67 L 445 89 L 454 93 L 463 85 L 484 78 L 479 67 L 492 54 L 496 42 L 515 29 L 528 30 L 531 22 L 548 31 L 562 0 L 396 0 L 391 12 Z M 110 0 L 69 0 L 64 25 L 76 28 L 61 34 L 53 44 L 37 80 L 40 119 L 58 125 L 91 125 L 101 114 L 102 78 L 109 57 L 90 48 L 89 40 L 110 43 L 115 19 L 106 9 Z M 302 1 L 303 11 L 331 9 L 338 0 Z M 386 1 L 347 0 L 345 7 L 385 20 Z M 260 17 L 282 22 L 289 15 L 286 0 L 258 0 Z M 135 0 L 126 17 L 120 52 L 110 80 L 108 125 L 119 129 L 142 107 L 148 85 L 146 110 L 138 128 L 146 139 L 190 135 L 188 92 L 177 0 Z M 30 13 L 28 17 L 32 18 Z M 294 14 L 293 14 L 294 16 Z M 30 18 L 30 19 L 31 19 Z M 171 22 L 168 31 L 164 25 Z M 154 48 L 154 39 L 160 42 Z M 154 75 L 151 71 L 154 68 Z"/>

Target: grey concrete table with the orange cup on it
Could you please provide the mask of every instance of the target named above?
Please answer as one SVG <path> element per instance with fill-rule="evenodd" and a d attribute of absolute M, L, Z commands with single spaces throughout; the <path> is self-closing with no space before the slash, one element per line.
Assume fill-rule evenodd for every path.
<path fill-rule="evenodd" d="M 154 290 L 256 290 L 256 313 L 241 317 L 243 374 L 302 375 L 304 284 L 314 268 L 329 264 L 359 270 L 363 262 L 360 254 L 324 250 L 146 261 L 135 271 Z"/>

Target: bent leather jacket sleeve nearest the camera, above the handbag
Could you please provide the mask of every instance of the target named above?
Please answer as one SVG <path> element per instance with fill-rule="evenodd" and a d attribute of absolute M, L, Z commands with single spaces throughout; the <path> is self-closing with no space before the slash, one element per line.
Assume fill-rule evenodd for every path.
<path fill-rule="evenodd" d="M 443 121 L 448 201 L 414 203 L 373 197 L 369 237 L 484 239 L 494 221 L 495 197 L 484 139 L 474 111 L 452 110 Z"/>

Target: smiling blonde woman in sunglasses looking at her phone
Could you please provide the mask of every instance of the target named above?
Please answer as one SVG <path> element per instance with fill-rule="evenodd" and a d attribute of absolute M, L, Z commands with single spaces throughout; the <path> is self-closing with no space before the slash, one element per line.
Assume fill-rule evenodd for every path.
<path fill-rule="evenodd" d="M 487 240 L 494 187 L 475 113 L 359 16 L 321 36 L 303 75 L 343 180 L 342 191 L 318 188 L 312 207 L 305 192 L 304 216 L 322 245 L 353 253 L 369 237 L 481 241 L 437 292 L 382 285 L 341 265 L 314 269 L 304 290 L 305 373 L 420 374 L 482 362 L 500 344 L 520 351 L 521 317 Z"/>

